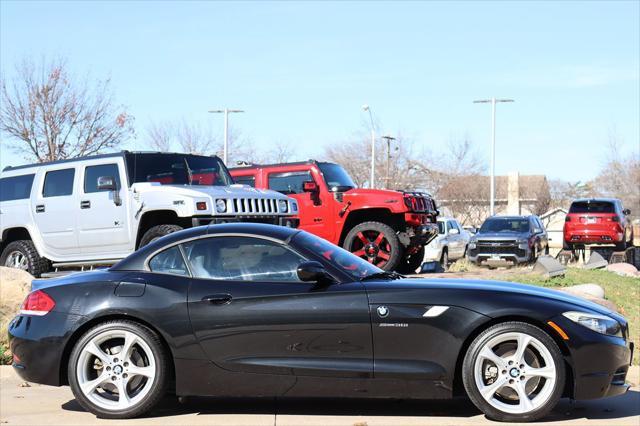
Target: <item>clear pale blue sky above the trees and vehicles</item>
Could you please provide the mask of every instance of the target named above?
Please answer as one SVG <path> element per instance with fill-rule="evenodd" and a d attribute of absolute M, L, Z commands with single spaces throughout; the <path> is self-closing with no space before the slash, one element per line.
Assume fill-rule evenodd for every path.
<path fill-rule="evenodd" d="M 0 2 L 0 68 L 63 56 L 111 76 L 145 148 L 150 120 L 232 122 L 301 158 L 358 131 L 371 105 L 416 151 L 468 135 L 497 172 L 592 178 L 614 131 L 640 152 L 640 2 Z M 547 156 L 546 154 L 554 154 Z M 0 163 L 20 163 L 2 141 Z M 488 158 L 488 155 L 486 155 Z"/>

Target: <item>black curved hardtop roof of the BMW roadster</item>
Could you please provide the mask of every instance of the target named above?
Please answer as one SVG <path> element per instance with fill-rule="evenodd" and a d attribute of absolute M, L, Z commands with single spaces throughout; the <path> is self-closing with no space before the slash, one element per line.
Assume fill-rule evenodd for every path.
<path fill-rule="evenodd" d="M 145 261 L 152 253 L 161 250 L 163 247 L 172 245 L 179 241 L 198 238 L 204 235 L 216 234 L 240 234 L 247 236 L 262 236 L 286 241 L 300 232 L 298 229 L 287 228 L 286 226 L 268 225 L 264 223 L 236 222 L 224 223 L 220 225 L 204 225 L 195 228 L 188 228 L 182 231 L 173 232 L 148 244 L 138 251 L 130 254 L 110 269 L 114 271 L 142 271 L 145 269 Z"/>

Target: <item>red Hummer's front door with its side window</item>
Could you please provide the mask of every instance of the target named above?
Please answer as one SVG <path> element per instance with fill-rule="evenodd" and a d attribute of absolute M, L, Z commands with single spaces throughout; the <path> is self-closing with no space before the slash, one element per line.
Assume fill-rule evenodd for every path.
<path fill-rule="evenodd" d="M 267 182 L 269 189 L 298 200 L 301 229 L 328 241 L 334 240 L 335 224 L 330 222 L 333 218 L 332 199 L 324 196 L 322 187 L 308 169 L 271 172 L 267 175 Z M 315 183 L 317 190 L 306 192 L 305 182 Z"/>

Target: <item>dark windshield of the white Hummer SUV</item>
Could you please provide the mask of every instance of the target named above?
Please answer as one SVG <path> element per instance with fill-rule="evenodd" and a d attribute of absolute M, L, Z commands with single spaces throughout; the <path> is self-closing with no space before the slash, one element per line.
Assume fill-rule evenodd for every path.
<path fill-rule="evenodd" d="M 163 185 L 213 185 L 233 183 L 218 157 L 190 154 L 132 154 L 127 157 L 131 183 L 158 182 Z"/>

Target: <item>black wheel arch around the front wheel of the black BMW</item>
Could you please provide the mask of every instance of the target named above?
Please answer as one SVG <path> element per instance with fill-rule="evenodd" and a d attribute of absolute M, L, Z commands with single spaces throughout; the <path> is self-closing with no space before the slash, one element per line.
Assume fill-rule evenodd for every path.
<path fill-rule="evenodd" d="M 464 384 L 462 383 L 462 364 L 464 362 L 464 357 L 467 354 L 467 350 L 471 343 L 475 340 L 476 337 L 480 335 L 484 330 L 489 327 L 493 327 L 494 325 L 505 323 L 505 322 L 523 322 L 529 325 L 533 325 L 538 327 L 549 337 L 553 339 L 553 341 L 560 348 L 560 352 L 565 362 L 565 389 L 563 391 L 563 396 L 573 397 L 574 395 L 574 372 L 573 372 L 573 360 L 571 359 L 571 352 L 566 344 L 566 342 L 558 335 L 558 333 L 551 328 L 550 325 L 543 323 L 541 321 L 537 321 L 533 318 L 524 317 L 521 315 L 504 315 L 501 317 L 491 318 L 490 320 L 480 324 L 477 326 L 464 340 L 464 343 L 460 347 L 460 351 L 458 352 L 458 358 L 456 359 L 455 372 L 453 376 L 453 395 L 462 396 L 466 395 L 466 391 L 464 389 Z"/>

